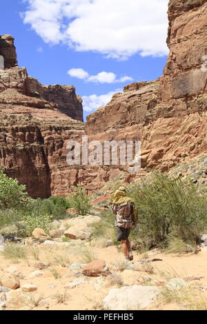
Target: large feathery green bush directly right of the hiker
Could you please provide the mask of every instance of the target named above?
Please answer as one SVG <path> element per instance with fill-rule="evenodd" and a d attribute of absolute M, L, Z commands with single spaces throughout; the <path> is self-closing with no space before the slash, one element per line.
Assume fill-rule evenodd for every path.
<path fill-rule="evenodd" d="M 128 195 L 139 210 L 137 239 L 149 247 L 166 246 L 172 236 L 198 243 L 207 221 L 207 201 L 197 185 L 155 172 L 148 181 L 131 185 Z"/>

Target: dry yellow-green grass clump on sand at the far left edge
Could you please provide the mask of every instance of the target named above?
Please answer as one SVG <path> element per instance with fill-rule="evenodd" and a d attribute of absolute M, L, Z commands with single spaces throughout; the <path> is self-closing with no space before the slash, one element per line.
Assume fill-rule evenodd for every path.
<path fill-rule="evenodd" d="M 2 254 L 6 259 L 12 259 L 14 261 L 18 261 L 19 259 L 26 259 L 28 256 L 26 248 L 23 245 L 14 243 L 6 244 Z"/>

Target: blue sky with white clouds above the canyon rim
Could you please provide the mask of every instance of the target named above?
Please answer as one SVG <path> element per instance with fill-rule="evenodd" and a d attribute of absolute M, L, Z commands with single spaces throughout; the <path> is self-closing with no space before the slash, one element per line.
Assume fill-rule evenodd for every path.
<path fill-rule="evenodd" d="M 43 84 L 75 85 L 84 117 L 124 85 L 160 77 L 168 0 L 1 1 L 0 34 Z"/>

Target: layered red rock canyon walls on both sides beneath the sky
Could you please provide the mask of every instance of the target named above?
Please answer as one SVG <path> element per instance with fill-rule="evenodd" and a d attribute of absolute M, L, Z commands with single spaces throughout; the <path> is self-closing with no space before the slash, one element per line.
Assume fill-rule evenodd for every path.
<path fill-rule="evenodd" d="M 89 141 L 140 139 L 142 171 L 168 171 L 206 152 L 207 2 L 170 0 L 168 17 L 164 74 L 127 85 L 86 125 L 75 88 L 28 77 L 9 41 L 11 57 L 0 71 L 0 165 L 30 196 L 67 195 L 77 183 L 95 192 L 120 173 L 129 182 L 144 174 L 121 165 L 68 165 L 67 143 L 81 142 L 83 134 Z"/>

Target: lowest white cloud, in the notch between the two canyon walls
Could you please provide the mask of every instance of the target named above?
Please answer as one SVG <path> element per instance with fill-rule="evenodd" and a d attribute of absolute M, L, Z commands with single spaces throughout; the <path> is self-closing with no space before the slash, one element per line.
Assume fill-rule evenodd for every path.
<path fill-rule="evenodd" d="M 117 89 L 115 91 L 110 91 L 107 94 L 101 94 L 100 96 L 97 96 L 97 94 L 91 94 L 90 96 L 82 96 L 83 99 L 83 110 L 85 112 L 93 112 L 97 110 L 102 105 L 106 105 L 111 99 L 112 95 L 122 92 L 121 89 Z"/>

